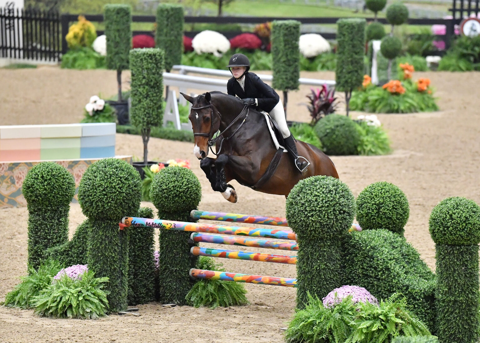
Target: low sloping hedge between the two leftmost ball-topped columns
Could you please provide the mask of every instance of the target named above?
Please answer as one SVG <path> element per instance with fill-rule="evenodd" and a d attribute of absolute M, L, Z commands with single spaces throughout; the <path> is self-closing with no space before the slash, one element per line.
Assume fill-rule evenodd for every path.
<path fill-rule="evenodd" d="M 58 260 L 65 267 L 87 264 L 87 245 L 90 230 L 90 224 L 88 220 L 85 220 L 78 225 L 70 241 L 47 249 L 45 258 L 51 257 Z"/>

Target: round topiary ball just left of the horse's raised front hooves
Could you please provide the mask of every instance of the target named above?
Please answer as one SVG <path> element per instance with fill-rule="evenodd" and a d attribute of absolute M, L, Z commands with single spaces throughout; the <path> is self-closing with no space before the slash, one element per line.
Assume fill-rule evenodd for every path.
<path fill-rule="evenodd" d="M 188 168 L 167 167 L 158 172 L 150 186 L 150 198 L 162 212 L 188 212 L 198 208 L 202 186 Z"/>

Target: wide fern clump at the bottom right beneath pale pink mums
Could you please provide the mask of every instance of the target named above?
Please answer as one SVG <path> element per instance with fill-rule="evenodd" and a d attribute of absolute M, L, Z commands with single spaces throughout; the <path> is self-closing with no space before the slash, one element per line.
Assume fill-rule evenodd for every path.
<path fill-rule="evenodd" d="M 308 305 L 294 314 L 285 331 L 288 343 L 388 343 L 399 335 L 430 335 L 399 294 L 392 294 L 379 306 L 354 304 L 348 296 L 333 308 L 324 307 L 322 300 L 308 294 Z"/>

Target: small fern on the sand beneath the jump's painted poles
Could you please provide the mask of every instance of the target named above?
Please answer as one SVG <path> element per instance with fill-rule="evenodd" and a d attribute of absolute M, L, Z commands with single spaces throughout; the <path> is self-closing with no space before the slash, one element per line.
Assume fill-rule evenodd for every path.
<path fill-rule="evenodd" d="M 221 268 L 223 263 L 217 263 L 211 257 L 200 257 L 197 263 L 198 269 L 225 271 Z M 234 305 L 249 304 L 245 294 L 245 287 L 239 282 L 223 280 L 199 280 L 190 292 L 185 296 L 188 303 L 194 307 L 218 306 L 228 307 Z"/>

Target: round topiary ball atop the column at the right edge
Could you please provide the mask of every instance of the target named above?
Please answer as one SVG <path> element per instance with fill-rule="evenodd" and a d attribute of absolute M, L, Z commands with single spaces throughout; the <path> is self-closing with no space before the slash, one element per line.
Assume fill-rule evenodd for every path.
<path fill-rule="evenodd" d="M 480 243 L 480 207 L 473 200 L 459 196 L 442 200 L 433 208 L 428 224 L 435 244 Z"/>

